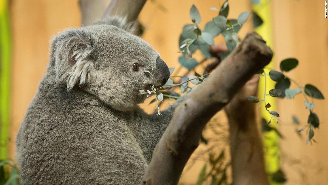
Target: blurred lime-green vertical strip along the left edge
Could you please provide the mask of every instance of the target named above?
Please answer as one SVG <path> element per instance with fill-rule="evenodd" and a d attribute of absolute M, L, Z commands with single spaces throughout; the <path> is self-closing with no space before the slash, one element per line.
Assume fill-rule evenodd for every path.
<path fill-rule="evenodd" d="M 0 0 L 0 159 L 8 158 L 10 124 L 10 41 L 8 1 Z"/>

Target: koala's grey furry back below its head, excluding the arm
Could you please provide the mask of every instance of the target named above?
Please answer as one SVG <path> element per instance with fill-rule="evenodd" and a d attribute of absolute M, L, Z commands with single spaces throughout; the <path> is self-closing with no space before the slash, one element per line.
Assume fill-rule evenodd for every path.
<path fill-rule="evenodd" d="M 119 113 L 41 81 L 17 135 L 23 184 L 138 184 L 147 162 Z"/>

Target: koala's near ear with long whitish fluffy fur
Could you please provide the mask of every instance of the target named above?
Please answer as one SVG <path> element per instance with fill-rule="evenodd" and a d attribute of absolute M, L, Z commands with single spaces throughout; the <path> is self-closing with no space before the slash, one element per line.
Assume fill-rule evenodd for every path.
<path fill-rule="evenodd" d="M 57 82 L 66 82 L 67 90 L 82 86 L 94 73 L 92 35 L 82 29 L 72 29 L 56 36 L 51 42 L 51 58 Z"/>

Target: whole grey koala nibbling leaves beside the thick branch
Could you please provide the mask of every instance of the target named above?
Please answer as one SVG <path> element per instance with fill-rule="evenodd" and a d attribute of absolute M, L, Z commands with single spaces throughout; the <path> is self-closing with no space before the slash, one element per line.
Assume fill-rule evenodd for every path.
<path fill-rule="evenodd" d="M 123 18 L 59 33 L 16 138 L 22 184 L 139 184 L 184 98 L 156 116 L 138 90 L 169 76 Z"/>

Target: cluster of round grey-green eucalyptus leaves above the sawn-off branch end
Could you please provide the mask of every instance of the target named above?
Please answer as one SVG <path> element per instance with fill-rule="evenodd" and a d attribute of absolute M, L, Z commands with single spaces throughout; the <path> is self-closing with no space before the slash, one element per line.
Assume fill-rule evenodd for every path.
<path fill-rule="evenodd" d="M 218 15 L 207 22 L 204 29 L 201 29 L 198 26 L 201 22 L 201 16 L 198 9 L 193 5 L 190 8 L 192 24 L 186 24 L 182 28 L 179 38 L 179 52 L 182 53 L 182 56 L 179 57 L 179 63 L 188 70 L 194 69 L 197 65 L 197 61 L 192 58 L 197 49 L 201 51 L 205 58 L 210 59 L 213 57 L 209 47 L 215 44 L 214 38 L 220 34 L 225 38 L 229 49 L 228 52 L 222 54 L 221 58 L 223 59 L 234 50 L 239 42 L 237 33 L 251 14 L 251 12 L 242 12 L 237 19 L 227 19 L 229 14 L 228 0 L 222 4 L 220 10 L 215 7 L 211 7 L 210 10 L 217 11 Z M 257 14 L 256 16 L 256 26 L 259 26 L 261 25 L 259 23 L 261 18 Z"/>

